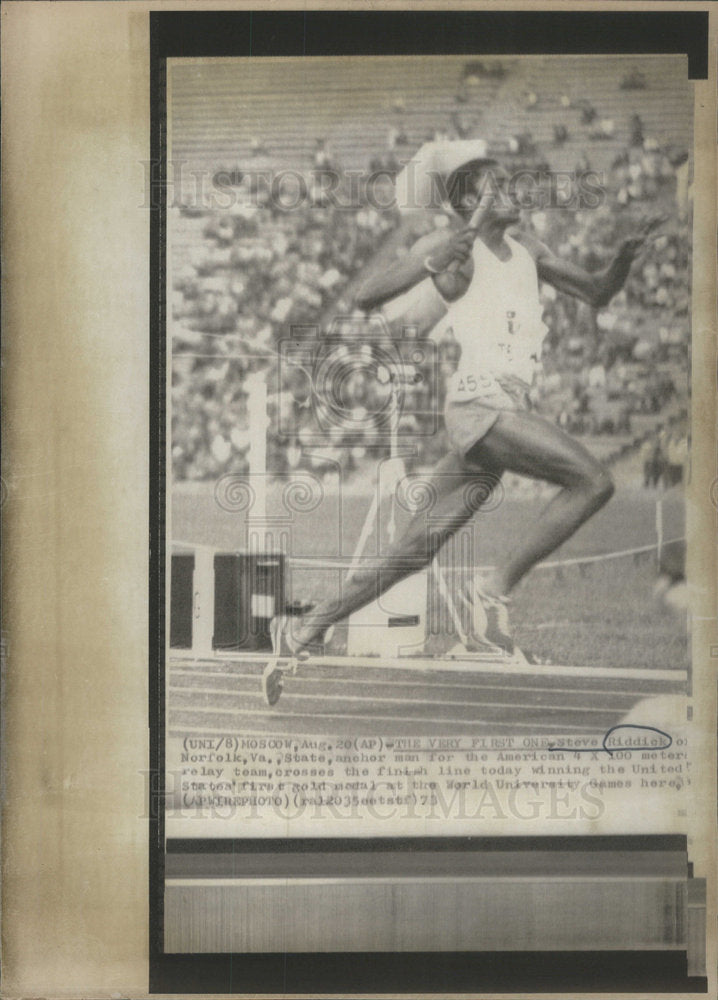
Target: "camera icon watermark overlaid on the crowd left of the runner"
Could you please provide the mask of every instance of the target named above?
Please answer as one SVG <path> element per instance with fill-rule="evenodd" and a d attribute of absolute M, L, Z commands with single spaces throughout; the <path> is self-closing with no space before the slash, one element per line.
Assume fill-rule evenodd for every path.
<path fill-rule="evenodd" d="M 279 344 L 279 380 L 295 404 L 281 408 L 279 433 L 299 425 L 305 444 L 381 446 L 439 427 L 436 345 L 414 327 L 392 336 L 382 316 L 337 316 L 324 336 L 293 326 Z"/>

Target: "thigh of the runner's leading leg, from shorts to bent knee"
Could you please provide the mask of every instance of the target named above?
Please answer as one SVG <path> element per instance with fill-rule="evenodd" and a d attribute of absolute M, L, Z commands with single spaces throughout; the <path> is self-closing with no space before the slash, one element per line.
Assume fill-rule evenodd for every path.
<path fill-rule="evenodd" d="M 593 455 L 560 427 L 524 411 L 502 412 L 469 458 L 561 486 L 602 471 Z"/>

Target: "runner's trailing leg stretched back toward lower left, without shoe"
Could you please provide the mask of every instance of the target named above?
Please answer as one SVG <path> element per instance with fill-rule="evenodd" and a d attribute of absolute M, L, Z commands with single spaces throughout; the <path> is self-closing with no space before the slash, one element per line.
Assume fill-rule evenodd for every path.
<path fill-rule="evenodd" d="M 476 503 L 471 503 L 466 486 L 477 473 L 475 467 L 455 454 L 441 459 L 428 477 L 427 486 L 435 497 L 431 509 L 413 516 L 376 568 L 360 570 L 345 580 L 338 597 L 322 601 L 302 618 L 301 625 L 293 632 L 295 646 L 301 648 L 316 642 L 334 622 L 376 600 L 399 580 L 426 566 L 444 542 L 476 512 Z"/>

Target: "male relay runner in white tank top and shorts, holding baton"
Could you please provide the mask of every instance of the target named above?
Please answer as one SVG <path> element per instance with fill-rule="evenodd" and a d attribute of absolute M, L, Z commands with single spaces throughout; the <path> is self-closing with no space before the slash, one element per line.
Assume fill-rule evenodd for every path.
<path fill-rule="evenodd" d="M 443 300 L 442 322 L 452 327 L 461 346 L 444 414 L 450 451 L 431 475 L 437 497 L 432 527 L 437 529 L 427 537 L 426 515 L 417 513 L 381 560 L 379 573 L 359 572 L 345 581 L 339 596 L 295 619 L 291 633 L 286 622 L 277 621 L 275 652 L 308 655 L 309 647 L 320 643 L 334 622 L 426 565 L 475 513 L 475 504 L 467 501 L 468 484 L 477 476 L 485 483 L 487 473 L 500 477 L 508 471 L 560 487 L 536 523 L 523 530 L 517 525 L 513 547 L 478 594 L 487 622 L 483 639 L 511 653 L 511 591 L 613 494 L 611 476 L 591 453 L 531 411 L 528 390 L 546 334 L 539 281 L 594 308 L 606 306 L 623 287 L 650 232 L 663 220 L 644 221 L 622 242 L 608 267 L 589 273 L 557 257 L 534 235 L 514 228 L 520 215 L 505 194 L 507 179 L 489 159 L 472 160 L 455 170 L 447 191 L 463 227 L 422 237 L 405 257 L 370 277 L 357 296 L 359 308 L 370 312 L 431 276 Z M 431 325 L 434 322 L 432 317 Z M 282 677 L 280 667 L 268 665 L 263 691 L 270 704 L 281 694 Z"/>

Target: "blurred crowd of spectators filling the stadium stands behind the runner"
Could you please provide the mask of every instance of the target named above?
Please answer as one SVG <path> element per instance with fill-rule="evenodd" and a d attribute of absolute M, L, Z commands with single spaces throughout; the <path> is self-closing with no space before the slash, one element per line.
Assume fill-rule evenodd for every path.
<path fill-rule="evenodd" d="M 527 213 L 524 223 L 589 270 L 608 263 L 643 215 L 666 217 L 605 309 L 542 287 L 549 334 L 534 394 L 542 412 L 599 457 L 640 454 L 647 488 L 679 481 L 688 452 L 688 145 L 669 141 L 656 130 L 655 115 L 643 111 L 659 85 L 660 63 L 620 65 L 599 88 L 602 99 L 589 101 L 576 87 L 543 89 L 539 76 L 515 63 L 457 63 L 436 107 L 422 95 L 420 117 L 410 96 L 391 93 L 372 119 L 379 117 L 383 140 L 374 133 L 376 148 L 360 146 L 351 162 L 336 129 L 332 137 L 314 137 L 311 148 L 294 155 L 281 190 L 267 181 L 267 170 L 271 176 L 276 161 L 286 171 L 286 150 L 280 156 L 261 134 L 245 136 L 237 161 L 216 160 L 214 182 L 231 195 L 227 207 L 184 202 L 171 210 L 175 481 L 248 471 L 245 380 L 252 372 L 265 373 L 269 391 L 270 470 L 361 476 L 386 454 L 389 388 L 376 378 L 371 352 L 342 382 L 346 420 L 323 425 L 306 371 L 278 363 L 280 344 L 290 336 L 314 342 L 329 329 L 335 350 L 346 341 L 351 361 L 356 325 L 337 328 L 332 317 L 351 314 L 358 277 L 397 230 L 393 176 L 427 140 L 473 137 L 488 137 L 509 171 L 539 176 L 557 163 L 575 177 L 599 171 L 605 194 L 597 207 L 569 197 L 568 207 Z M 506 121 L 513 127 L 502 127 Z M 426 225 L 447 222 L 438 211 Z M 458 348 L 446 335 L 435 352 L 436 364 L 403 399 L 400 431 L 411 438 L 416 466 L 433 462 L 444 447 L 433 421 Z"/>

